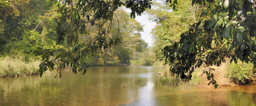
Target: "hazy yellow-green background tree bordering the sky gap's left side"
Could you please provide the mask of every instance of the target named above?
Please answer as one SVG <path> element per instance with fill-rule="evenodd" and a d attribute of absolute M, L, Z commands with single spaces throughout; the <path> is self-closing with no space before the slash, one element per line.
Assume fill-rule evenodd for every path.
<path fill-rule="evenodd" d="M 124 9 L 120 8 L 115 11 L 117 17 L 112 20 L 111 33 L 117 33 L 122 37 L 120 43 L 88 58 L 89 66 L 120 66 L 122 64 L 130 65 L 130 60 L 138 52 L 143 52 L 147 43 L 140 38 L 140 32 L 143 26 L 135 19 L 130 18 Z M 120 26 L 119 26 L 120 25 Z M 94 26 L 93 26 L 94 27 Z M 85 36 L 84 36 L 85 37 Z M 83 42 L 83 40 L 80 40 Z M 102 62 L 100 61 L 102 60 Z"/>

